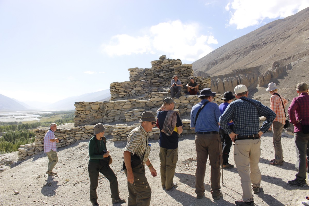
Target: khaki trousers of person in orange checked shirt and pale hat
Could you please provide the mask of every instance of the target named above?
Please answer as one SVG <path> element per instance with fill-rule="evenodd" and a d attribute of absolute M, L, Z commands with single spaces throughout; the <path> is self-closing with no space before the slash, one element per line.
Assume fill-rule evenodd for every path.
<path fill-rule="evenodd" d="M 273 147 L 275 148 L 275 161 L 277 163 L 283 162 L 283 152 L 281 145 L 281 133 L 283 129 L 281 122 L 273 122 Z"/>

